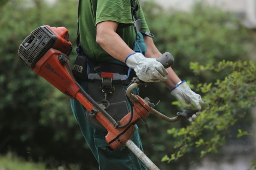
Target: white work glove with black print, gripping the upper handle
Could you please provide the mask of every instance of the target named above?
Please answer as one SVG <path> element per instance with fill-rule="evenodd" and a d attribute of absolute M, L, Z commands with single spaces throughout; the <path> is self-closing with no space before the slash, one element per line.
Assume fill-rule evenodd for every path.
<path fill-rule="evenodd" d="M 157 59 L 146 58 L 143 54 L 135 52 L 126 57 L 125 62 L 142 81 L 159 82 L 167 79 L 165 76 L 168 72 Z"/>

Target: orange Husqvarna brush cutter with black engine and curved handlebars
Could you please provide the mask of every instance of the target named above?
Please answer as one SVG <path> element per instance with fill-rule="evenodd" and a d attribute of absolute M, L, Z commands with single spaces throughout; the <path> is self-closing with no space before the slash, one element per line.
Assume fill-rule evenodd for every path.
<path fill-rule="evenodd" d="M 49 25 L 42 25 L 32 31 L 21 43 L 18 55 L 37 75 L 46 79 L 70 99 L 76 98 L 89 111 L 90 116 L 97 119 L 107 129 L 108 133 L 105 139 L 111 148 L 117 149 L 126 145 L 149 170 L 159 170 L 133 141 L 130 140 L 135 130 L 134 125 L 139 120 L 146 118 L 149 113 L 167 122 L 179 121 L 184 116 L 169 118 L 154 110 L 154 104 L 148 98 L 142 99 L 138 95 L 132 94 L 131 91 L 135 87 L 144 84 L 138 78 L 133 78 L 132 83 L 126 89 L 126 95 L 133 102 L 133 109 L 121 120 L 116 121 L 104 110 L 104 107 L 95 102 L 76 82 L 72 75 L 68 58 L 71 50 L 72 45 L 69 41 L 68 30 L 65 27 L 55 28 Z M 170 53 L 166 52 L 158 61 L 167 68 L 173 63 L 173 57 Z M 183 114 L 188 118 L 194 112 Z"/>

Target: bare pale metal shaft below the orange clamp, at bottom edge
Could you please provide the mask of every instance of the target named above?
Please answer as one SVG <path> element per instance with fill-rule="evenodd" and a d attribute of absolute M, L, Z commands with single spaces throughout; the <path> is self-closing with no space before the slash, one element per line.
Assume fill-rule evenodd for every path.
<path fill-rule="evenodd" d="M 143 162 L 149 170 L 160 170 L 146 154 L 138 148 L 132 140 L 127 140 L 125 145 Z"/>

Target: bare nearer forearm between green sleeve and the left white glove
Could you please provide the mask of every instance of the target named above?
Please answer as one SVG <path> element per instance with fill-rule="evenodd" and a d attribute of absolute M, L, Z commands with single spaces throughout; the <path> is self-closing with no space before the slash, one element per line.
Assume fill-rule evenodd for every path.
<path fill-rule="evenodd" d="M 125 62 L 126 57 L 134 51 L 115 32 L 118 22 L 104 21 L 96 25 L 96 41 L 100 46 L 117 60 Z"/>

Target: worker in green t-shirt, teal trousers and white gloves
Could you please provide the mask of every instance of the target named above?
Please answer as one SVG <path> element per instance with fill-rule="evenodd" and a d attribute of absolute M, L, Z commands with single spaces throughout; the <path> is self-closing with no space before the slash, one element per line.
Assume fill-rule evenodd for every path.
<path fill-rule="evenodd" d="M 80 1 L 78 9 L 80 53 L 96 62 L 130 67 L 134 69 L 138 78 L 145 82 L 163 81 L 180 102 L 192 105 L 193 109 L 201 110 L 204 103 L 201 96 L 191 91 L 186 82 L 181 81 L 172 68 L 164 69 L 157 62 L 156 59 L 162 54 L 154 45 L 152 38 L 141 32 L 136 36 L 131 2 L 131 0 Z M 141 20 L 140 30 L 149 32 L 141 5 L 138 0 L 135 0 L 135 3 L 138 6 L 136 19 Z M 143 67 L 146 67 L 147 71 L 143 71 Z M 87 69 L 87 73 L 88 71 Z M 87 81 L 77 80 L 88 91 Z M 71 108 L 92 153 L 99 162 L 100 170 L 147 169 L 126 146 L 112 150 L 105 141 L 107 132 L 97 129 L 85 119 L 86 110 L 76 99 L 71 100 Z M 137 126 L 132 140 L 143 150 Z"/>

